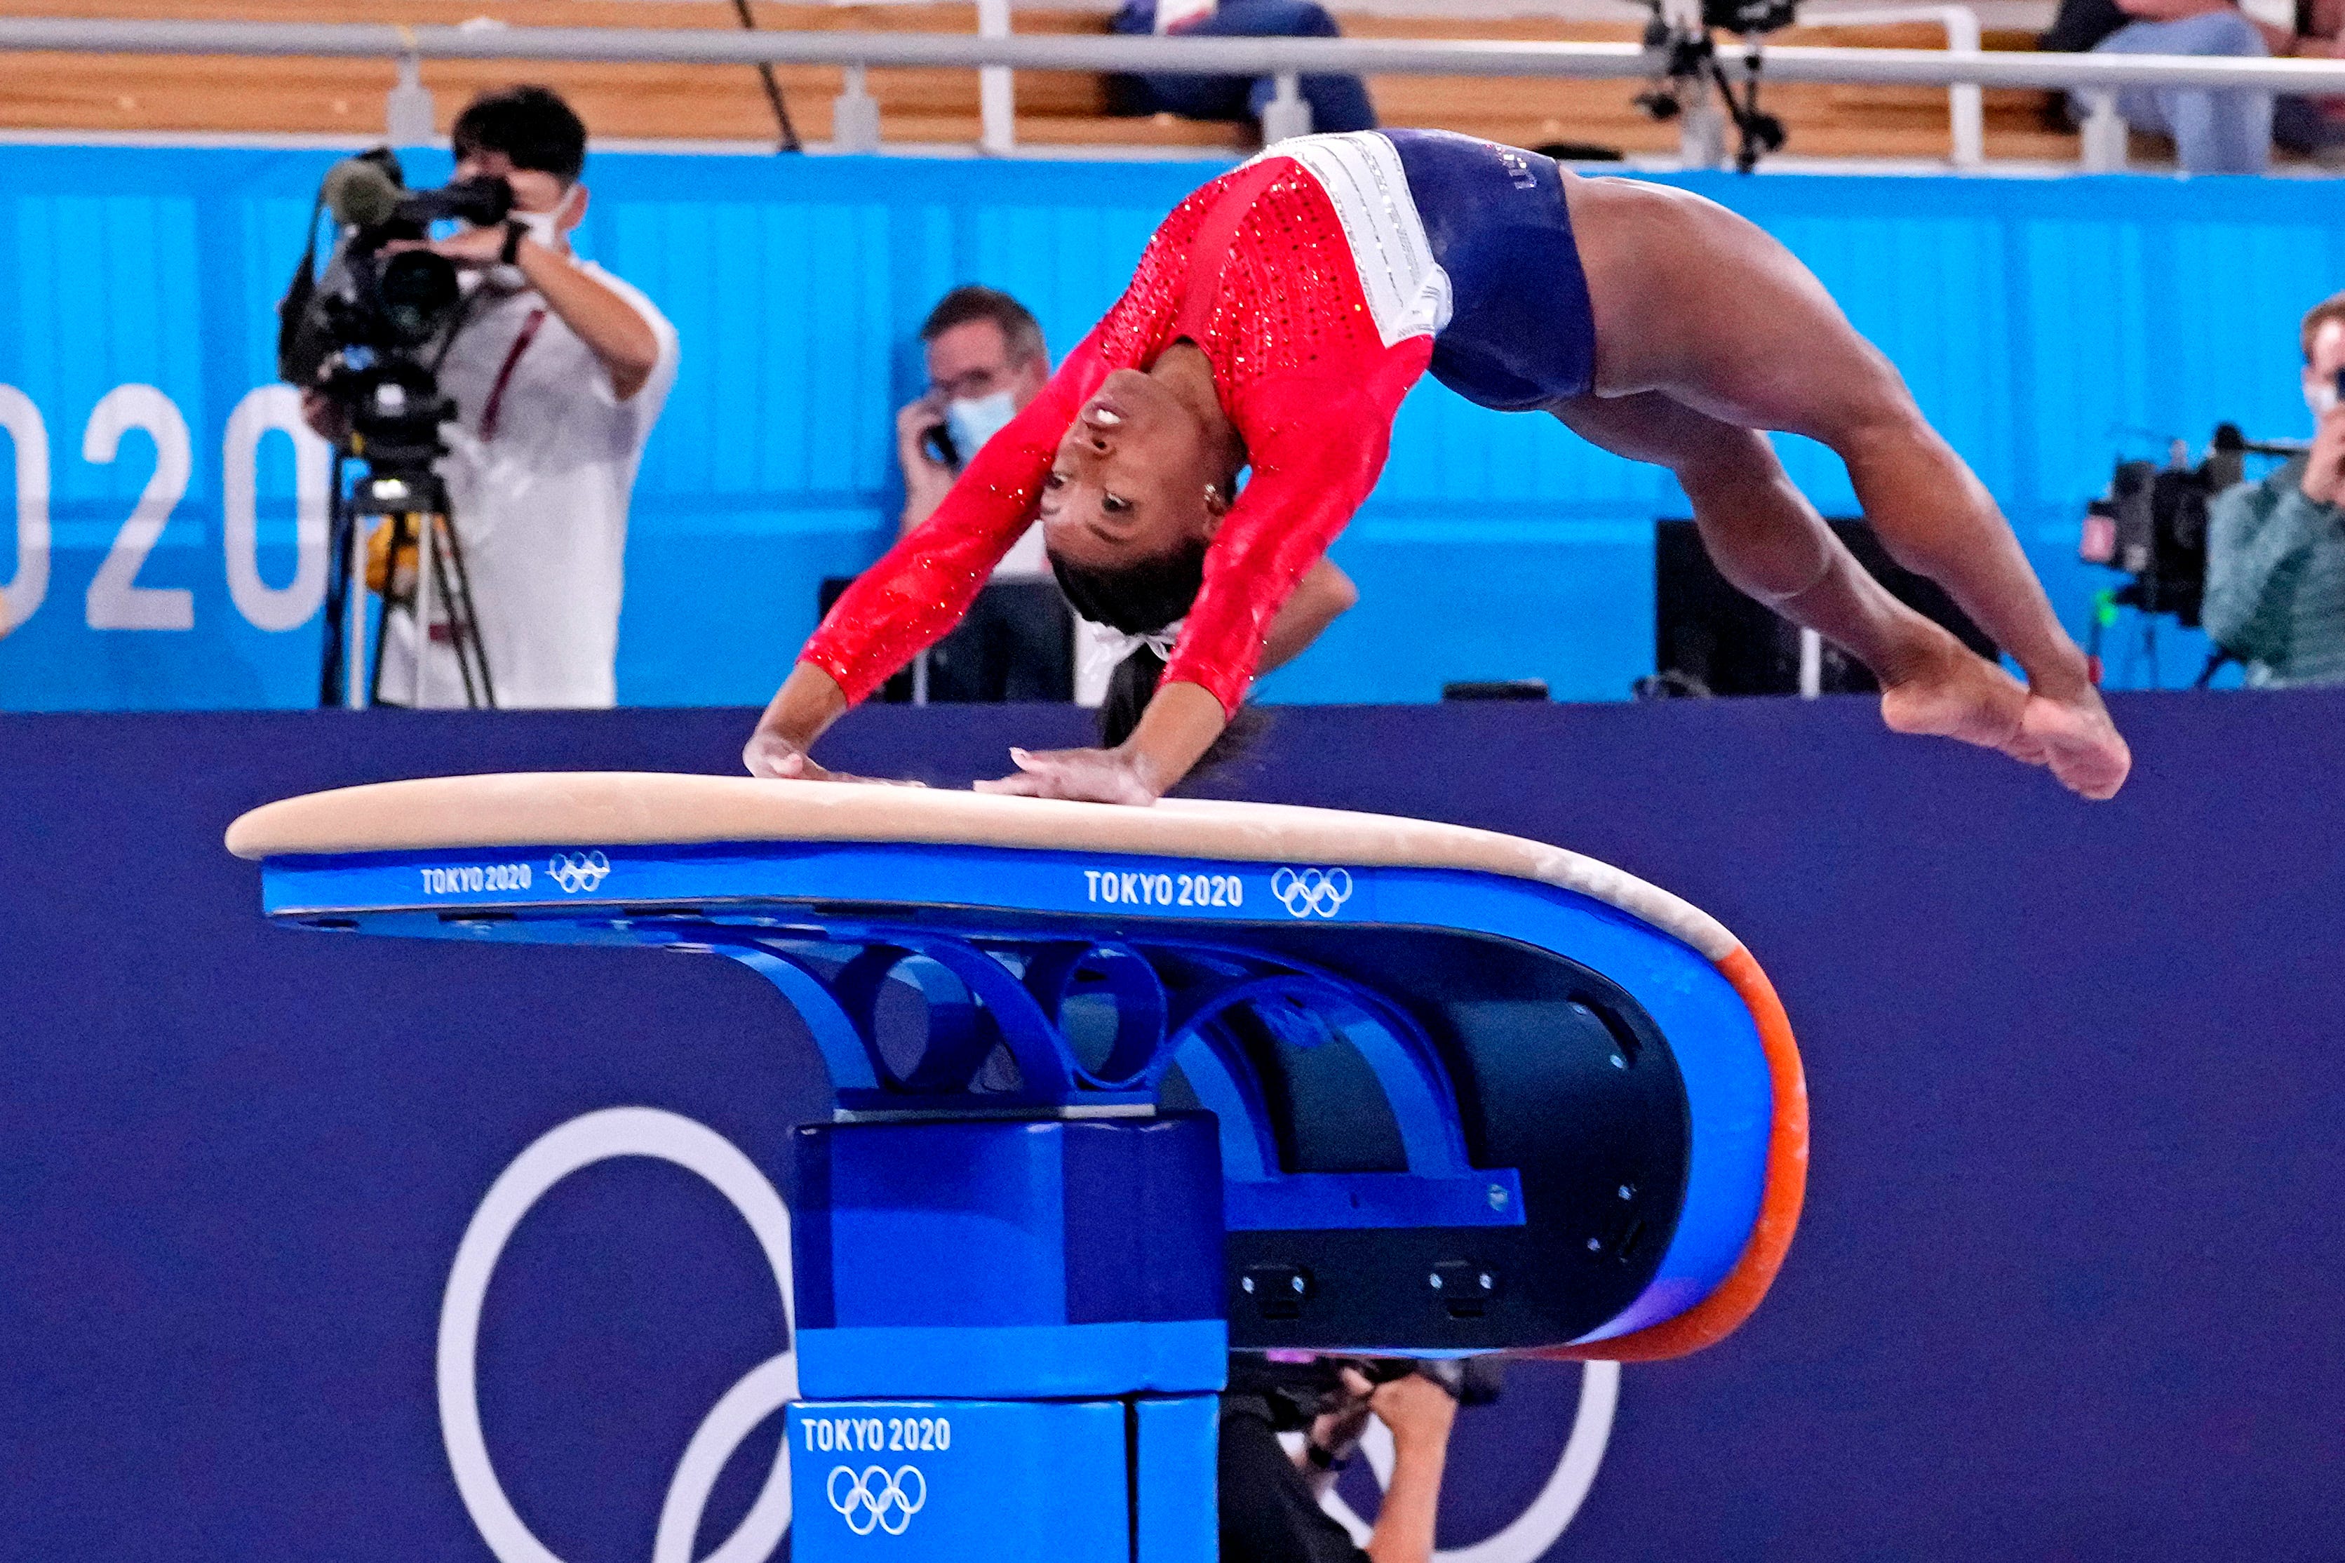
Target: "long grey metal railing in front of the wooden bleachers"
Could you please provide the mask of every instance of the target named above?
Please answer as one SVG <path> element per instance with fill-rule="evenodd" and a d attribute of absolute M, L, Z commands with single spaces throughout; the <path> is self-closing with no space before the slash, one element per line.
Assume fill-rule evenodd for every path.
<path fill-rule="evenodd" d="M 1829 14 L 1820 23 L 1836 21 Z M 844 66 L 835 146 L 877 146 L 877 103 L 863 87 L 868 68 L 931 66 L 973 70 L 1083 70 L 1149 75 L 1271 75 L 1278 99 L 1264 134 L 1278 138 L 1309 124 L 1297 77 L 1353 75 L 1513 75 L 1566 80 L 1637 80 L 1656 68 L 1632 42 L 1391 40 L 1391 38 L 1149 38 L 1149 35 L 968 35 L 968 33 L 729 33 L 720 28 L 514 28 L 389 26 L 281 21 L 84 21 L 0 19 L 0 52 L 70 54 L 230 54 L 310 59 L 603 61 L 671 66 Z M 1745 75 L 1738 54 L 1721 59 Z M 2021 87 L 2075 92 L 2092 106 L 2085 167 L 2122 167 L 2125 129 L 2115 92 L 2125 87 L 2237 87 L 2251 92 L 2345 94 L 2345 61 L 2333 59 L 2183 59 L 2150 54 L 2026 54 L 1965 49 L 1817 49 L 1770 47 L 1768 82 Z M 1004 96 L 1006 103 L 1006 96 Z M 1299 115 L 1297 115 L 1299 110 Z M 1006 108 L 990 150 L 1008 150 Z M 2110 136 L 2110 129 L 2115 131 Z M 997 143 L 999 141 L 999 143 Z"/>

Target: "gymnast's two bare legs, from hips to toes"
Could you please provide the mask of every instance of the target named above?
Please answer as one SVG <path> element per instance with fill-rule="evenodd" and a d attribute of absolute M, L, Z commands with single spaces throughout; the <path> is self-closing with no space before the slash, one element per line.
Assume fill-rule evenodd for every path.
<path fill-rule="evenodd" d="M 1902 732 L 2052 765 L 2106 798 L 2132 765 L 2019 540 L 1890 361 L 1775 239 L 1684 190 L 1566 178 L 1595 312 L 1595 394 L 1555 413 L 1686 486 L 1719 570 L 1862 659 Z M 1902 608 L 1792 488 L 1766 439 L 1822 441 L 1848 465 L 1881 544 L 2028 674 L 2021 690 Z"/>

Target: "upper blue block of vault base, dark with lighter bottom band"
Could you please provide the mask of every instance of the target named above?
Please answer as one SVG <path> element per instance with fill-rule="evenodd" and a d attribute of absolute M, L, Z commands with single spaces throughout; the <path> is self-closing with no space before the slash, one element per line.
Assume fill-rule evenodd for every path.
<path fill-rule="evenodd" d="M 818 1399 L 1219 1389 L 1203 1112 L 800 1124 L 797 1375 Z"/>

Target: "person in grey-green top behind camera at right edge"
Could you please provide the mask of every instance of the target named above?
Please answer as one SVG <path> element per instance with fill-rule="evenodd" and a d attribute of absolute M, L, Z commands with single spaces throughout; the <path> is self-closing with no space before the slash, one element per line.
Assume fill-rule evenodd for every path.
<path fill-rule="evenodd" d="M 2345 293 L 2305 314 L 2303 352 L 2312 451 L 2207 519 L 2202 622 L 2254 688 L 2345 683 Z"/>

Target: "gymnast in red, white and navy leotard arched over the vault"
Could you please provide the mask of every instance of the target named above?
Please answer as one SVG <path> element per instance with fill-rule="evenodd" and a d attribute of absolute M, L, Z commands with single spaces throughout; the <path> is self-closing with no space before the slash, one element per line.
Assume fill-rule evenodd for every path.
<path fill-rule="evenodd" d="M 1175 207 L 1041 397 L 837 601 L 743 763 L 830 777 L 814 739 L 1039 521 L 1067 601 L 1130 655 L 1104 746 L 1013 749 L 1018 772 L 978 789 L 1154 803 L 1255 674 L 1351 605 L 1327 544 L 1426 371 L 1667 467 L 1719 570 L 1869 667 L 1897 732 L 2050 765 L 2087 798 L 2122 786 L 2132 756 L 2012 528 L 1787 249 L 1698 195 L 1447 131 L 1280 141 Z M 1867 575 L 1763 429 L 1838 453 L 1890 556 L 2026 683 Z"/>

